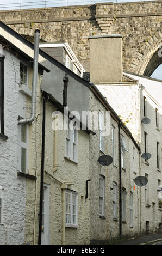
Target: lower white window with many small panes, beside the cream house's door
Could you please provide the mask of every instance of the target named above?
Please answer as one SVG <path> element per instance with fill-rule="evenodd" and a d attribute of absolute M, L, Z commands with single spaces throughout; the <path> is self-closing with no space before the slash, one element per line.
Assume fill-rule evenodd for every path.
<path fill-rule="evenodd" d="M 66 194 L 70 195 L 70 212 L 66 212 Z M 72 217 L 70 217 L 70 223 L 67 223 L 66 220 L 66 214 L 70 214 L 70 216 L 73 215 L 73 204 L 72 204 L 72 196 L 76 197 L 76 222 L 72 223 Z M 73 190 L 66 189 L 65 190 L 65 227 L 67 228 L 78 228 L 78 193 Z"/>

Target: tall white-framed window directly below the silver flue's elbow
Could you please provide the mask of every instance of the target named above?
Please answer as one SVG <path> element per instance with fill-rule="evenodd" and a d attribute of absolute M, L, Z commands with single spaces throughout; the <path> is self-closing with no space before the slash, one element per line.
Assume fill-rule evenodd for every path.
<path fill-rule="evenodd" d="M 29 143 L 29 127 L 26 124 L 26 143 L 22 142 L 21 138 L 22 134 L 22 125 L 18 125 L 18 167 L 17 170 L 23 173 L 28 173 L 28 143 Z M 26 149 L 26 170 L 22 170 L 21 166 L 21 154 L 22 154 L 22 148 Z"/>

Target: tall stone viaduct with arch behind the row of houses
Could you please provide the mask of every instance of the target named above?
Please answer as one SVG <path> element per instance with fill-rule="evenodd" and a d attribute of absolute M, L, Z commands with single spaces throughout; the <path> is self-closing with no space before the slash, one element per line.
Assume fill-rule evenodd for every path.
<path fill-rule="evenodd" d="M 43 41 L 68 42 L 86 71 L 89 35 L 122 34 L 124 70 L 151 76 L 162 63 L 161 0 L 7 10 L 0 20 L 29 40 L 39 28 Z"/>

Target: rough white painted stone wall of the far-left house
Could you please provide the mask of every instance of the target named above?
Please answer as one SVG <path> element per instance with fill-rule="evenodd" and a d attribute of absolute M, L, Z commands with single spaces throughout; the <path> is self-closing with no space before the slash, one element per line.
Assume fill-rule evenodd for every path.
<path fill-rule="evenodd" d="M 0 245 L 24 243 L 26 179 L 17 176 L 18 109 L 25 104 L 18 93 L 19 60 L 3 50 L 4 59 L 4 129 L 8 140 L 0 138 L 0 185 L 3 187 L 3 225 Z"/>

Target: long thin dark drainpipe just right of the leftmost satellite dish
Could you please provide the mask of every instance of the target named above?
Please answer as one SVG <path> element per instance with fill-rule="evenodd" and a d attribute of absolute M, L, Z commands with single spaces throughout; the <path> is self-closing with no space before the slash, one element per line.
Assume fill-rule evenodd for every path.
<path fill-rule="evenodd" d="M 121 174 L 121 123 L 118 124 L 119 131 L 119 202 L 120 202 L 120 239 L 122 240 L 122 174 Z"/>

